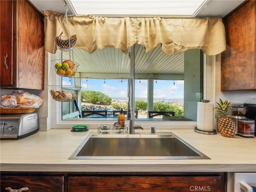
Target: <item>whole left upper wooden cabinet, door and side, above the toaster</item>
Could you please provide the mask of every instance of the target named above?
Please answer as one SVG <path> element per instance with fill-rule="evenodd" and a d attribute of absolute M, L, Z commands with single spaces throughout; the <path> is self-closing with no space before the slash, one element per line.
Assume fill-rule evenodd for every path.
<path fill-rule="evenodd" d="M 44 17 L 28 1 L 0 1 L 0 87 L 44 89 Z"/>

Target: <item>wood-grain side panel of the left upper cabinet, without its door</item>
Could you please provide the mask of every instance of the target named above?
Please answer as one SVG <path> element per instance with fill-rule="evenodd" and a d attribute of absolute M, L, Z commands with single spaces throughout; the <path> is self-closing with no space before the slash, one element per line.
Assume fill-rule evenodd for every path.
<path fill-rule="evenodd" d="M 27 1 L 17 10 L 17 87 L 43 90 L 44 18 Z"/>

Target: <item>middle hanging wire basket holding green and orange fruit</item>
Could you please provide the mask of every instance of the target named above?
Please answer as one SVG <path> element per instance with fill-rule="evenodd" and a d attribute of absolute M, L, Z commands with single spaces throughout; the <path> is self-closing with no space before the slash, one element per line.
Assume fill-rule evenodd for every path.
<path fill-rule="evenodd" d="M 79 66 L 77 62 L 69 59 L 56 59 L 52 60 L 51 63 L 57 75 L 70 78 L 74 77 Z"/>

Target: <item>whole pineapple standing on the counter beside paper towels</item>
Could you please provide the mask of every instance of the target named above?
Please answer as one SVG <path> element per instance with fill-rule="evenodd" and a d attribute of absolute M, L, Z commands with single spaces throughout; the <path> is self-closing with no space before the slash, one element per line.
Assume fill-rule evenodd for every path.
<path fill-rule="evenodd" d="M 236 134 L 236 124 L 228 117 L 228 111 L 230 110 L 231 102 L 225 100 L 224 102 L 220 99 L 220 102 L 216 102 L 217 112 L 220 115 L 218 118 L 218 129 L 224 137 L 234 137 Z"/>

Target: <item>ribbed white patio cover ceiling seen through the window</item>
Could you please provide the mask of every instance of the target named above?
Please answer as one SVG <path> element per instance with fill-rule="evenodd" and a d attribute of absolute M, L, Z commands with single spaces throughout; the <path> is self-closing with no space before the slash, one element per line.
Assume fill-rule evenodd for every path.
<path fill-rule="evenodd" d="M 115 48 L 97 49 L 90 54 L 81 49 L 74 49 L 73 55 L 69 52 L 63 52 L 63 58 L 67 59 L 71 56 L 76 58 L 79 64 L 77 72 L 84 73 L 83 77 L 90 74 L 108 74 L 108 76 L 116 76 L 116 74 L 130 74 L 130 58 L 128 54 L 124 54 L 121 50 Z M 166 75 L 168 78 L 182 80 L 184 78 L 184 52 L 176 55 L 168 55 L 162 51 L 161 44 L 158 44 L 150 52 L 145 52 L 142 45 L 135 44 L 135 72 L 136 74 L 158 74 Z M 181 76 L 180 76 L 181 75 Z"/>

